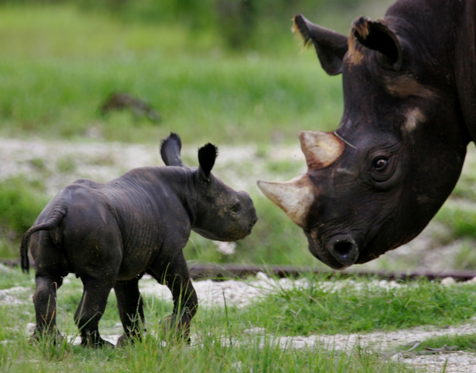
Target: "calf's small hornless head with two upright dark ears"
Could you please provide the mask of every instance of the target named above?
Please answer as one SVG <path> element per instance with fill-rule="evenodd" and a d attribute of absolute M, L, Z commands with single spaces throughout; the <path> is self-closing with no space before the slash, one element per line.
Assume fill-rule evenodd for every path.
<path fill-rule="evenodd" d="M 166 165 L 186 167 L 180 148 L 177 134 L 170 134 L 162 142 L 160 154 Z M 217 155 L 217 147 L 208 143 L 198 149 L 199 167 L 186 167 L 191 171 L 188 188 L 193 193 L 192 210 L 196 214 L 192 229 L 208 239 L 236 241 L 251 233 L 258 218 L 247 192 L 235 191 L 211 173 Z"/>

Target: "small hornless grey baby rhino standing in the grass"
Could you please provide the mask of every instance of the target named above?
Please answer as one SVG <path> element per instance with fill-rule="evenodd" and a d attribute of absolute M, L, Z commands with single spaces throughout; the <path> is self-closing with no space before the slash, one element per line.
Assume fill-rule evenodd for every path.
<path fill-rule="evenodd" d="M 258 218 L 248 193 L 210 173 L 214 145 L 198 150 L 198 168 L 182 163 L 180 148 L 172 133 L 160 149 L 167 167 L 136 168 L 106 183 L 77 180 L 41 212 L 21 242 L 21 268 L 29 270 L 28 249 L 36 266 L 33 338 L 58 333 L 56 290 L 68 273 L 84 286 L 75 314 L 82 344 L 109 344 L 99 336 L 98 323 L 111 288 L 124 327 L 118 344 L 139 337 L 144 313 L 138 283 L 144 273 L 169 287 L 174 310 L 166 325 L 178 325 L 188 335 L 197 309 L 182 253 L 190 230 L 236 241 L 250 234 Z"/>

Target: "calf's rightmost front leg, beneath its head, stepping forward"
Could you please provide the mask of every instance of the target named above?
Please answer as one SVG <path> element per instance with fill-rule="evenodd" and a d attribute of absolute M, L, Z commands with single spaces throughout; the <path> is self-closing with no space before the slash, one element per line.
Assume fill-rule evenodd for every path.
<path fill-rule="evenodd" d="M 169 263 L 166 273 L 158 273 L 153 267 L 150 268 L 150 272 L 157 280 L 165 278 L 165 284 L 172 292 L 174 309 L 172 315 L 164 320 L 166 331 L 177 331 L 179 337 L 183 336 L 190 342 L 190 321 L 197 312 L 198 298 L 190 281 L 183 253 L 180 252 L 175 261 Z M 163 281 L 159 282 L 163 283 Z"/>

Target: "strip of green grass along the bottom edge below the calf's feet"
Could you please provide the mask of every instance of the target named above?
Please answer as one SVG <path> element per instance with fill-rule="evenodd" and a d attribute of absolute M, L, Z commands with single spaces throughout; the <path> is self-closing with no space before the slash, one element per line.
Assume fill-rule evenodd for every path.
<path fill-rule="evenodd" d="M 210 320 L 208 320 L 210 321 Z M 280 349 L 269 340 L 254 339 L 232 348 L 220 346 L 224 331 L 210 325 L 204 343 L 188 347 L 169 343 L 162 346 L 152 337 L 123 349 L 91 350 L 64 345 L 31 346 L 26 338 L 1 345 L 0 369 L 5 372 L 315 372 L 395 373 L 414 372 L 402 363 L 382 361 L 374 354 L 356 349 L 344 354 L 322 350 Z M 218 342 L 218 343 L 217 343 Z"/>

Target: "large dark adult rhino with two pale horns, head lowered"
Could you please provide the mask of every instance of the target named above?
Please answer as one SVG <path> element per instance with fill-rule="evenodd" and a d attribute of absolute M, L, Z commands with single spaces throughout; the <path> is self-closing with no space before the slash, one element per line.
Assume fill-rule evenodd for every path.
<path fill-rule="evenodd" d="M 399 0 L 350 36 L 302 15 L 294 28 L 342 73 L 335 132 L 299 133 L 308 171 L 258 182 L 336 269 L 413 239 L 453 190 L 476 139 L 476 1 Z"/>

